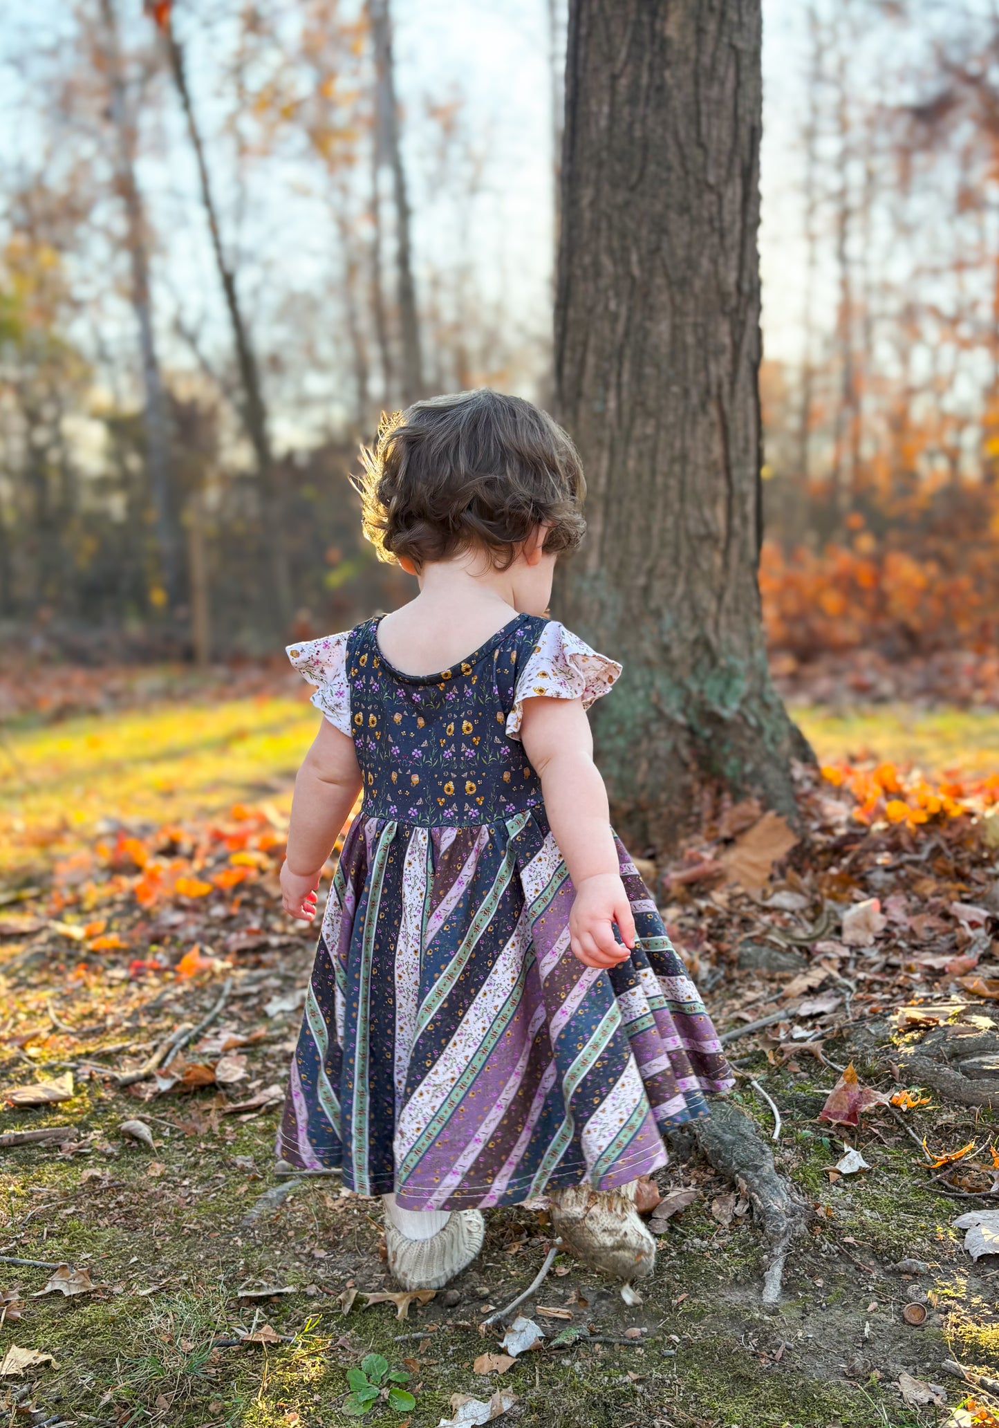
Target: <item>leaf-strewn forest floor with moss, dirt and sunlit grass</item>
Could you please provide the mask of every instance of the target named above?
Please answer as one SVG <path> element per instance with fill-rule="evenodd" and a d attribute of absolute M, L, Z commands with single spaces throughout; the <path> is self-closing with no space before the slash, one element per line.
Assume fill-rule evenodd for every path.
<path fill-rule="evenodd" d="M 675 941 L 719 1030 L 739 1032 L 736 1101 L 768 1144 L 778 1108 L 776 1164 L 809 1211 L 776 1309 L 738 1187 L 681 1152 L 648 1192 L 665 1211 L 689 1191 L 659 1212 L 644 1302 L 559 1255 L 521 1309 L 545 1341 L 508 1361 L 480 1325 L 541 1267 L 542 1204 L 492 1212 L 451 1291 L 397 1304 L 378 1298 L 397 1287 L 377 1201 L 277 1174 L 313 952 L 277 868 L 315 715 L 274 683 L 220 693 L 153 680 L 59 720 L 34 700 L 3 731 L 3 1421 L 347 1422 L 348 1371 L 380 1354 L 415 1398 L 378 1398 L 365 1421 L 382 1428 L 435 1428 L 461 1414 L 455 1394 L 507 1395 L 501 1425 L 542 1428 L 999 1425 L 999 1259 L 972 1261 L 953 1228 L 998 1178 L 999 1125 L 965 1104 L 989 1055 L 955 1100 L 939 1090 L 952 1051 L 928 1050 L 953 1034 L 982 1051 L 999 1030 L 999 715 L 798 710 L 831 768 L 801 771 L 791 851 L 775 861 L 762 810 L 719 804 L 658 870 Z M 761 858 L 769 878 L 748 885 Z M 164 1040 L 213 1011 L 154 1074 Z M 882 1094 L 853 1128 L 819 1118 L 849 1061 Z M 1 1138 L 46 1127 L 61 1130 Z M 845 1147 L 868 1168 L 836 1170 Z"/>

